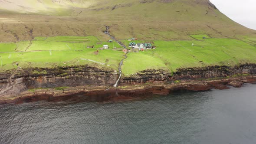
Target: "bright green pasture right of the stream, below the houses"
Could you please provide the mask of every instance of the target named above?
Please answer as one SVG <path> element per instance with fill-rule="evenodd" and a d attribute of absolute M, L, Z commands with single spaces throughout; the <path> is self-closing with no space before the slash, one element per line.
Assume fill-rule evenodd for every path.
<path fill-rule="evenodd" d="M 239 63 L 256 62 L 256 48 L 237 39 L 154 41 L 154 45 L 157 49 L 128 54 L 128 59 L 122 66 L 123 73 L 129 75 L 147 68 L 165 69 L 167 67 L 171 71 L 176 71 L 178 68 L 208 65 L 233 66 Z"/>

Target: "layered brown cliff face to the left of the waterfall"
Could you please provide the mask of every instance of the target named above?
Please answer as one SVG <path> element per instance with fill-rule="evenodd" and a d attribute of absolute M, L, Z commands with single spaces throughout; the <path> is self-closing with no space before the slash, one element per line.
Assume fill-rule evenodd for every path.
<path fill-rule="evenodd" d="M 0 90 L 19 92 L 26 88 L 112 85 L 117 79 L 118 73 L 115 70 L 98 69 L 89 65 L 54 69 L 20 68 L 0 74 Z"/>

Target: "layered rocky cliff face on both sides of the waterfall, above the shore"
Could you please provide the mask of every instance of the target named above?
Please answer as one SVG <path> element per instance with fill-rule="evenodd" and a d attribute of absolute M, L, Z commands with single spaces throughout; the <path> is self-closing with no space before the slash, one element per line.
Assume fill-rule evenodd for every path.
<path fill-rule="evenodd" d="M 207 79 L 236 74 L 256 74 L 256 64 L 229 66 L 209 66 L 203 68 L 177 69 L 172 75 L 164 70 L 144 70 L 135 75 L 123 76 L 121 84 L 146 82 L 163 83 L 168 80 Z M 18 93 L 27 88 L 75 87 L 80 85 L 112 86 L 118 79 L 113 69 L 98 69 L 89 65 L 55 69 L 17 69 L 0 73 L 0 96 L 5 93 Z"/>

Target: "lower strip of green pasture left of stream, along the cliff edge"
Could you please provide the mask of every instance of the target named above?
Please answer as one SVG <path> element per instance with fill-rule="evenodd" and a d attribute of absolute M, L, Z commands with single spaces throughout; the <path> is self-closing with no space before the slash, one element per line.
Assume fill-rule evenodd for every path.
<path fill-rule="evenodd" d="M 92 64 L 98 67 L 118 68 L 118 63 L 123 59 L 121 51 L 113 51 L 110 49 L 100 50 L 95 54 L 96 49 L 85 49 L 81 51 L 62 50 L 62 51 L 37 51 L 37 52 L 10 52 L 0 53 L 2 62 L 1 69 L 15 69 L 16 63 L 20 67 L 56 67 L 56 66 L 72 66 Z M 90 59 L 96 62 L 105 63 L 101 65 L 82 59 Z"/>

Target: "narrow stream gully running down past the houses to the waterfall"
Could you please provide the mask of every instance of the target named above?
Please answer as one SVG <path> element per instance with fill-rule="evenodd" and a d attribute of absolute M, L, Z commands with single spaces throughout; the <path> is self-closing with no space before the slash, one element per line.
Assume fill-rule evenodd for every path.
<path fill-rule="evenodd" d="M 109 26 L 106 26 L 106 30 L 104 31 L 104 33 L 105 33 L 106 35 L 110 36 L 111 39 L 115 40 L 115 42 L 117 42 L 120 46 L 122 46 L 123 48 L 127 49 L 126 46 L 125 46 L 125 44 L 123 44 L 122 42 L 118 41 L 118 40 L 115 38 L 115 36 L 110 35 L 108 29 L 109 29 Z M 126 59 L 126 58 L 127 58 L 126 54 L 125 54 L 124 56 L 125 56 L 124 59 Z M 121 76 L 122 76 L 122 69 L 121 69 L 121 66 L 123 65 L 124 59 L 122 59 L 121 62 L 119 63 L 119 67 L 118 67 L 119 78 L 118 78 L 118 80 L 115 82 L 114 87 L 117 87 L 117 86 L 118 86 L 118 82 L 119 82 L 119 80 L 121 79 Z"/>

